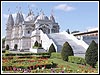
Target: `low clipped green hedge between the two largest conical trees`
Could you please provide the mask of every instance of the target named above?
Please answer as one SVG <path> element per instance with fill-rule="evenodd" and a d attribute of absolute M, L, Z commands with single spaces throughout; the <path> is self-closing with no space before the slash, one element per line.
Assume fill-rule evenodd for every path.
<path fill-rule="evenodd" d="M 82 58 L 82 57 L 76 57 L 76 56 L 69 56 L 68 57 L 68 62 L 82 64 L 82 65 L 86 64 L 86 61 L 85 61 L 84 58 Z"/>

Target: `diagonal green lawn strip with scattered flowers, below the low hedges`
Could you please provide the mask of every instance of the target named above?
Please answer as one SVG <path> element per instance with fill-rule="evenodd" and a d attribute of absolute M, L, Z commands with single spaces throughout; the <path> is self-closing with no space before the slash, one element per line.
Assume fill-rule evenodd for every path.
<path fill-rule="evenodd" d="M 66 62 L 66 61 L 63 61 L 62 59 L 57 59 L 57 58 L 53 58 L 49 60 L 53 61 L 54 63 L 57 63 L 58 68 L 66 69 L 67 72 L 68 70 L 70 70 L 71 73 L 97 73 L 98 72 L 97 69 L 92 68 L 89 65 L 70 63 L 70 62 Z"/>

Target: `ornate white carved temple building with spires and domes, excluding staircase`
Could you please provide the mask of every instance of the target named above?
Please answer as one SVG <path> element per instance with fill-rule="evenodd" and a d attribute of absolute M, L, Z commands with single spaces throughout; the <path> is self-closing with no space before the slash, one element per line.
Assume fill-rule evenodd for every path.
<path fill-rule="evenodd" d="M 43 12 L 35 16 L 32 11 L 29 11 L 25 19 L 21 12 L 17 12 L 15 21 L 10 14 L 6 24 L 5 45 L 9 45 L 11 49 L 14 49 L 15 44 L 18 45 L 18 49 L 31 48 L 34 30 L 42 30 L 46 34 L 58 33 L 59 25 L 53 15 L 48 18 Z"/>

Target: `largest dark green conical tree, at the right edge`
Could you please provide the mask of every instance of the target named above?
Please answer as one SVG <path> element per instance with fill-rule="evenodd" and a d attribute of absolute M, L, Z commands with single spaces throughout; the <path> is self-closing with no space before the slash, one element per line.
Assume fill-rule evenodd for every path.
<path fill-rule="evenodd" d="M 86 53 L 85 53 L 86 63 L 92 67 L 95 67 L 98 61 L 98 45 L 94 40 L 90 43 Z"/>

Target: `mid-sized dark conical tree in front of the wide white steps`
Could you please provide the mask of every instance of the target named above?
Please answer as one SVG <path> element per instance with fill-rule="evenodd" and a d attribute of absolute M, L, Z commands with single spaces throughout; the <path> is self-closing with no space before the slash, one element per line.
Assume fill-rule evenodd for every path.
<path fill-rule="evenodd" d="M 68 61 L 68 56 L 74 56 L 73 49 L 68 42 L 63 44 L 61 56 L 64 61 Z"/>

